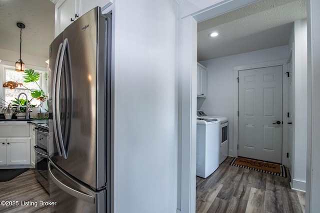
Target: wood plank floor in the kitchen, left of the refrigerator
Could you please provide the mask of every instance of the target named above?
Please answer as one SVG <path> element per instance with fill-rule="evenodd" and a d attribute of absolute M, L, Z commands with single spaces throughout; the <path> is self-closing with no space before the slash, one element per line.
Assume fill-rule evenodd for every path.
<path fill-rule="evenodd" d="M 16 178 L 0 182 L 0 201 L 18 201 L 18 206 L 0 205 L 0 213 L 49 213 L 50 208 L 39 206 L 39 201 L 48 201 L 49 195 L 36 181 L 34 169 L 22 173 Z M 26 206 L 24 202 L 37 202 L 37 207 Z M 22 202 L 21 206 L 20 202 Z M 26 203 L 27 204 L 27 203 Z"/>

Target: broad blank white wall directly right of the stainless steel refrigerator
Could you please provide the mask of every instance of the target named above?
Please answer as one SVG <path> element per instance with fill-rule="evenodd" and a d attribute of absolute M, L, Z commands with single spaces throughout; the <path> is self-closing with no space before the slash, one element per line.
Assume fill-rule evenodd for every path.
<path fill-rule="evenodd" d="M 114 0 L 114 212 L 175 213 L 174 0 Z"/>

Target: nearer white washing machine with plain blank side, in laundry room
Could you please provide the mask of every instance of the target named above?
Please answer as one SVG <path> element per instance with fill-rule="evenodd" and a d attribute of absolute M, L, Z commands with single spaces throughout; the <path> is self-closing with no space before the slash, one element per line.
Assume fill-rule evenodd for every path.
<path fill-rule="evenodd" d="M 196 120 L 196 176 L 206 178 L 219 167 L 219 129 L 217 119 Z"/>

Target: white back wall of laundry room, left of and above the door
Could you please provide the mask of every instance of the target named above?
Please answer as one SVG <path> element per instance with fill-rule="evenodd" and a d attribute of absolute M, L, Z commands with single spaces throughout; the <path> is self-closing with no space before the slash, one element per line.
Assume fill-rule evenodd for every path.
<path fill-rule="evenodd" d="M 233 140 L 234 66 L 286 59 L 288 47 L 280 46 L 248 53 L 200 61 L 207 68 L 207 98 L 200 110 L 207 115 L 225 116 L 229 119 L 229 155 L 237 156 L 237 142 Z"/>

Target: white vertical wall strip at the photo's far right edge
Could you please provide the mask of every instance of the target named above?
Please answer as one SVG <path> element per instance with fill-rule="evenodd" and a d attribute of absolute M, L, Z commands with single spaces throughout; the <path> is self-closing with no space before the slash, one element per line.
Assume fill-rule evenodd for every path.
<path fill-rule="evenodd" d="M 307 0 L 308 129 L 305 212 L 320 209 L 320 1 Z"/>

